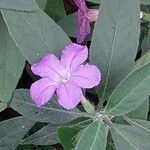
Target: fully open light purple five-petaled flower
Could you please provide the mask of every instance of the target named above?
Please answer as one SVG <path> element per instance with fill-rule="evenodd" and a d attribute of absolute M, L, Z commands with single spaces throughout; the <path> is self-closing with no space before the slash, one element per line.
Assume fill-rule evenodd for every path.
<path fill-rule="evenodd" d="M 83 65 L 87 57 L 86 46 L 70 44 L 63 50 L 60 60 L 48 54 L 39 63 L 33 64 L 33 73 L 42 77 L 30 88 L 36 105 L 40 107 L 47 103 L 56 91 L 58 103 L 66 109 L 73 109 L 83 96 L 81 88 L 92 88 L 101 80 L 96 66 Z"/>

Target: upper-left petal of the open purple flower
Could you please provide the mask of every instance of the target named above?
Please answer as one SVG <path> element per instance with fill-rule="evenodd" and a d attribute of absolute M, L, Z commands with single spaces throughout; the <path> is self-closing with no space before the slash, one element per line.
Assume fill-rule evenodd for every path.
<path fill-rule="evenodd" d="M 55 55 L 48 54 L 39 63 L 33 64 L 31 70 L 36 75 L 57 81 L 64 68 Z"/>

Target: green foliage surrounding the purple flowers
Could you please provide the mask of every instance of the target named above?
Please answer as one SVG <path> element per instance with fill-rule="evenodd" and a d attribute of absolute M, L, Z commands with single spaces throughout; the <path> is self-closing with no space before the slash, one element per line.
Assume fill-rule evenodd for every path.
<path fill-rule="evenodd" d="M 66 0 L 0 0 L 0 149 L 149 150 L 150 0 L 88 0 L 99 9 L 86 39 L 102 83 L 86 91 L 95 105 L 67 111 L 56 97 L 37 108 L 30 65 L 76 42 L 76 10 Z M 61 143 L 61 145 L 60 145 Z"/>

